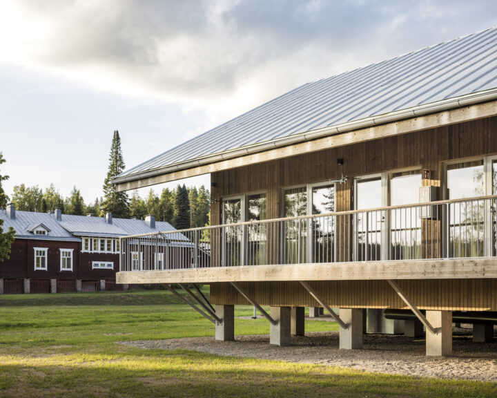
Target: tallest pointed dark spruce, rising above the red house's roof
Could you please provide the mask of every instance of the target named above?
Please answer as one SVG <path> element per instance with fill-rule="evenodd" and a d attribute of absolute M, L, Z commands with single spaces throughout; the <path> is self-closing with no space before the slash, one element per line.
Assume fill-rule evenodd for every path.
<path fill-rule="evenodd" d="M 119 138 L 119 131 L 115 130 L 110 146 L 109 168 L 104 181 L 104 201 L 101 202 L 101 209 L 104 213 L 112 213 L 114 217 L 128 218 L 130 214 L 128 194 L 118 192 L 117 187 L 112 183 L 115 176 L 122 171 L 124 171 L 124 160 L 121 152 L 121 138 Z"/>

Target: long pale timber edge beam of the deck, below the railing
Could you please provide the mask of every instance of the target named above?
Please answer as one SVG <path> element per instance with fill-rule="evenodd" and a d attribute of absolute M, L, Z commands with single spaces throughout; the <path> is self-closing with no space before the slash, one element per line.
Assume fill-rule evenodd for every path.
<path fill-rule="evenodd" d="M 218 283 L 277 281 L 380 281 L 497 278 L 497 258 L 255 265 L 118 272 L 117 283 Z"/>

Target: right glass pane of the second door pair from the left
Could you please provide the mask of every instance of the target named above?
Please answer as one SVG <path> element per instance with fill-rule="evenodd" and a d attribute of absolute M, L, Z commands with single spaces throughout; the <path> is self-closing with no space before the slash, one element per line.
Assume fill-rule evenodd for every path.
<path fill-rule="evenodd" d="M 335 186 L 333 184 L 311 188 L 312 214 L 335 211 Z M 332 263 L 335 254 L 335 216 L 312 218 L 310 221 L 310 249 L 313 263 Z"/>

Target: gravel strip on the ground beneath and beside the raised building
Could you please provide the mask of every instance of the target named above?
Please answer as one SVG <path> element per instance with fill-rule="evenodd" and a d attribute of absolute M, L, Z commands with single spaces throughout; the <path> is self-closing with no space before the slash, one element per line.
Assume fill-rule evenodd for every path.
<path fill-rule="evenodd" d="M 338 332 L 308 333 L 292 337 L 291 347 L 269 344 L 269 336 L 237 336 L 235 341 L 215 341 L 213 337 L 126 341 L 139 348 L 186 349 L 230 357 L 273 359 L 298 363 L 318 363 L 366 370 L 440 379 L 497 382 L 497 342 L 472 343 L 471 336 L 454 335 L 451 357 L 426 357 L 425 339 L 368 334 L 364 350 L 339 350 Z"/>

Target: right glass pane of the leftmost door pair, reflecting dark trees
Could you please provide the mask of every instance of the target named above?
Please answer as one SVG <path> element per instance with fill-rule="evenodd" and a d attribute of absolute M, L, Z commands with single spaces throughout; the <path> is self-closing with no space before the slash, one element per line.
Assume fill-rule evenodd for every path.
<path fill-rule="evenodd" d="M 246 221 L 262 221 L 267 219 L 266 193 L 256 193 L 246 196 Z M 246 226 L 247 247 L 246 264 L 268 264 L 267 238 L 269 225 L 255 223 Z"/>

